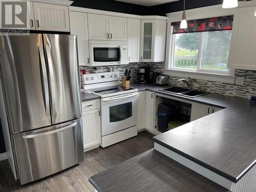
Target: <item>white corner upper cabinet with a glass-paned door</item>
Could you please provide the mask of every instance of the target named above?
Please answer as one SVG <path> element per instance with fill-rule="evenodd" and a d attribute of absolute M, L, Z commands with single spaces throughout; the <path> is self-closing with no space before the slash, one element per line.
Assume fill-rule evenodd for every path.
<path fill-rule="evenodd" d="M 165 61 L 166 20 L 142 19 L 140 61 Z"/>

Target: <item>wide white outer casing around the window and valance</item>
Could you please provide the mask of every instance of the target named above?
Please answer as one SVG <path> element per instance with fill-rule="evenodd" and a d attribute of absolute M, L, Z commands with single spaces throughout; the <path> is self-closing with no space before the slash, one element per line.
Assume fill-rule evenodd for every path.
<path fill-rule="evenodd" d="M 251 6 L 251 2 L 239 2 L 239 6 L 246 7 Z M 214 5 L 208 7 L 201 7 L 196 9 L 189 9 L 186 10 L 186 17 L 187 20 L 194 20 L 194 19 L 202 19 L 202 18 L 211 18 L 211 17 L 219 17 L 219 16 L 226 16 L 235 14 L 237 11 L 236 8 L 230 9 L 223 9 L 222 5 Z M 195 71 L 187 71 L 180 69 L 171 69 L 170 62 L 171 62 L 171 50 L 172 50 L 172 33 L 173 33 L 173 22 L 180 22 L 182 11 L 166 13 L 167 16 L 167 35 L 166 35 L 166 52 L 165 52 L 165 70 L 164 74 L 174 76 L 174 77 L 181 77 L 184 78 L 189 75 L 191 78 L 200 79 L 200 80 L 207 80 L 207 81 L 215 81 L 215 82 L 224 82 L 229 84 L 234 84 L 234 80 L 236 76 L 234 76 L 234 69 L 229 70 L 229 75 L 226 74 L 214 74 L 214 73 L 202 73 L 202 72 L 195 72 Z"/>

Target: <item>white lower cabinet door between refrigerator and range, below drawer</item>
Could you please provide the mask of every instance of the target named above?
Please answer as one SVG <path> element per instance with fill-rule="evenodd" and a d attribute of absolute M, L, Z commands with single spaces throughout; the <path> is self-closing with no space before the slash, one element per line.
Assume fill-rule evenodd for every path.
<path fill-rule="evenodd" d="M 100 143 L 100 109 L 82 113 L 83 148 Z"/>

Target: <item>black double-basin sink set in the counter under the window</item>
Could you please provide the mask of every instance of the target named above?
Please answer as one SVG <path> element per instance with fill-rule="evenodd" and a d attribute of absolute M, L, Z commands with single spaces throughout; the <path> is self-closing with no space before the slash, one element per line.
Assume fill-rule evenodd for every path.
<path fill-rule="evenodd" d="M 162 89 L 160 91 L 182 95 L 186 97 L 199 97 L 199 96 L 208 94 L 207 92 L 204 92 L 204 91 L 191 90 L 191 89 L 182 88 L 182 87 L 171 87 L 171 88 Z"/>

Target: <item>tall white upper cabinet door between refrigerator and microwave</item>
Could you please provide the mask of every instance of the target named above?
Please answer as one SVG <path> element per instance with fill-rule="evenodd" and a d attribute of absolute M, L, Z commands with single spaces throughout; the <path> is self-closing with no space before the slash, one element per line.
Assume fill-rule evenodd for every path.
<path fill-rule="evenodd" d="M 70 32 L 72 35 L 77 35 L 79 66 L 89 66 L 87 13 L 70 11 Z"/>

